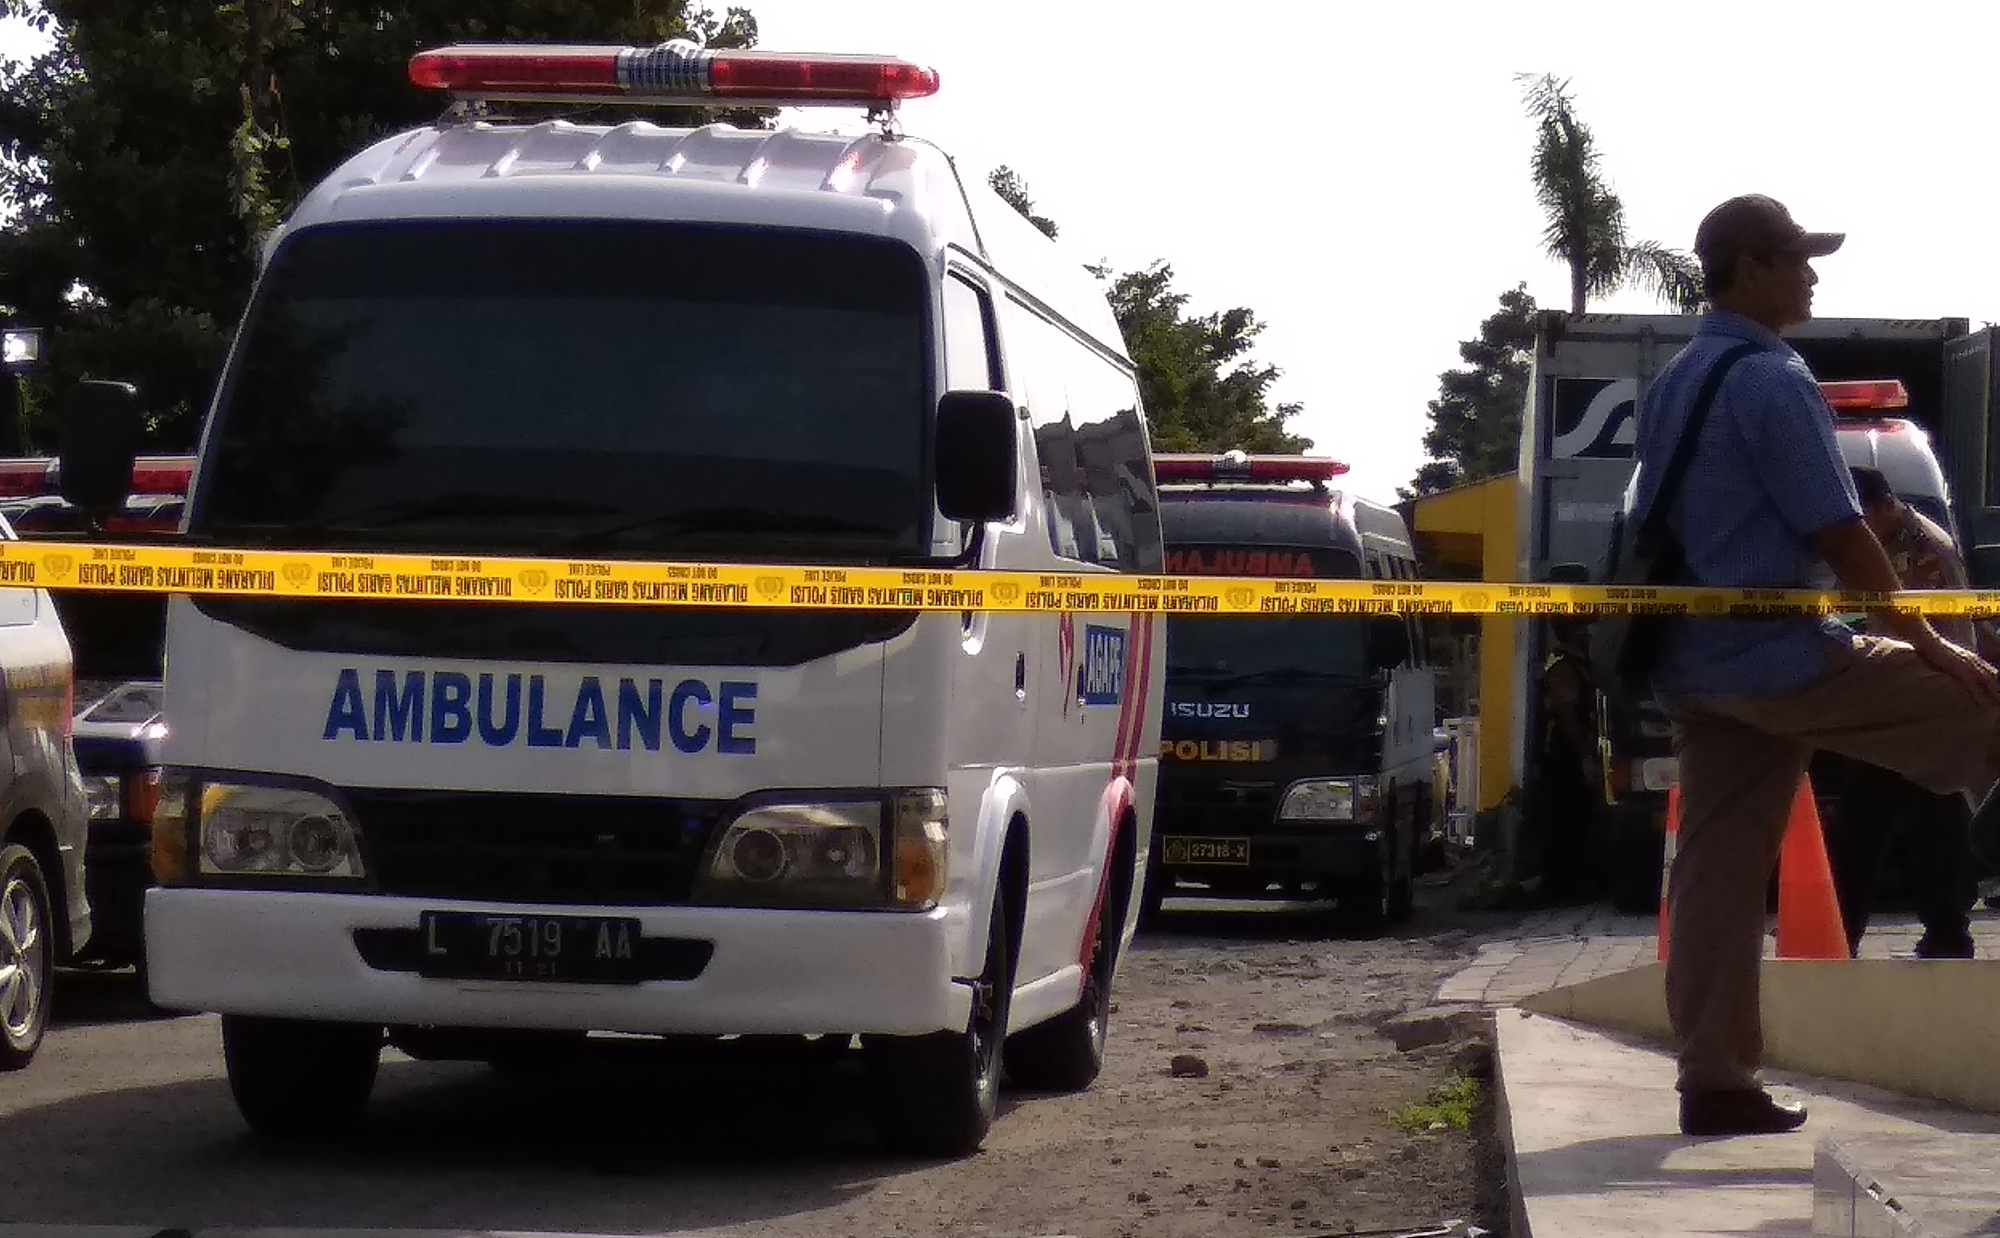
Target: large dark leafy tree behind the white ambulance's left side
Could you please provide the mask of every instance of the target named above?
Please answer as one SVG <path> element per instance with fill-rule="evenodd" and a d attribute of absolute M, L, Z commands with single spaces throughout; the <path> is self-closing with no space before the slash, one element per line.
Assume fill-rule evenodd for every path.
<path fill-rule="evenodd" d="M 410 86 L 414 52 L 690 32 L 756 42 L 748 10 L 718 16 L 698 0 L 0 0 L 0 16 L 54 34 L 34 62 L 0 64 L 0 310 L 48 332 L 36 406 L 60 404 L 80 376 L 130 378 L 158 442 L 178 448 L 270 228 L 342 158 L 444 112 Z"/>

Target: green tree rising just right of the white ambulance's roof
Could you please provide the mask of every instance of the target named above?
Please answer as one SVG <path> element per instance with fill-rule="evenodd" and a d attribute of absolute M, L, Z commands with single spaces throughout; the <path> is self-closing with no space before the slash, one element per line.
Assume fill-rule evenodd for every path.
<path fill-rule="evenodd" d="M 1056 236 L 1056 222 L 1034 212 L 1018 172 L 994 168 L 988 184 L 1028 222 Z M 1304 406 L 1270 404 L 1282 370 L 1250 358 L 1264 330 L 1254 312 L 1238 306 L 1190 318 L 1188 296 L 1174 290 L 1174 268 L 1166 262 L 1124 274 L 1108 264 L 1088 270 L 1110 282 L 1106 296 L 1138 368 L 1156 450 L 1294 454 L 1312 446 L 1310 438 L 1284 428 Z"/>

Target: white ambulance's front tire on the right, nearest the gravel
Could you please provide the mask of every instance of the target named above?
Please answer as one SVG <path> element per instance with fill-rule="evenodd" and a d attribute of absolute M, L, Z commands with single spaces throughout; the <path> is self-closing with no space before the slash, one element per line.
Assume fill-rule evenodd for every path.
<path fill-rule="evenodd" d="M 1008 894 L 994 898 L 986 964 L 964 1032 L 862 1036 L 868 1110 L 882 1146 L 898 1156 L 972 1156 L 1000 1112 L 1000 1046 L 1014 1004 Z"/>

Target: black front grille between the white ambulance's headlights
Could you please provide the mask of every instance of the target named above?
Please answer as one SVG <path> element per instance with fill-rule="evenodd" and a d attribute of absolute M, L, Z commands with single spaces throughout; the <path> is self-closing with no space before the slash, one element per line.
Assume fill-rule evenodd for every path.
<path fill-rule="evenodd" d="M 410 898 L 688 902 L 722 816 L 710 800 L 476 792 L 346 794 L 370 886 Z"/>

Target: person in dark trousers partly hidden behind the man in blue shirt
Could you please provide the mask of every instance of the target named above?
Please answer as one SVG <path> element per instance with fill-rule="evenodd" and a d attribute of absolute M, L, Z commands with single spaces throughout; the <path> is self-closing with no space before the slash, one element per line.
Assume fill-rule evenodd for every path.
<path fill-rule="evenodd" d="M 1952 534 L 1924 516 L 1890 488 L 1878 468 L 1852 468 L 1854 492 L 1860 496 L 1862 518 L 1874 530 L 1888 560 L 1914 590 L 1970 588 L 1966 564 Z M 1860 628 L 1874 626 L 1874 618 Z M 1940 636 L 1958 648 L 1988 654 L 1990 630 L 1968 618 L 1934 618 Z M 1972 856 L 1966 850 L 1966 824 L 1972 808 L 1960 794 L 1936 794 L 1902 774 L 1866 762 L 1842 762 L 1840 810 L 1826 824 L 1826 850 L 1834 870 L 1834 890 L 1840 896 L 1840 920 L 1848 930 L 1848 954 L 1860 952 L 1868 932 L 1876 880 L 1890 840 L 1900 842 L 1904 884 L 1924 922 L 1916 944 L 1918 958 L 1972 958 L 1972 904 L 1978 888 L 1972 880 Z"/>

